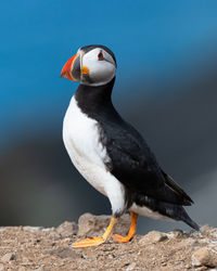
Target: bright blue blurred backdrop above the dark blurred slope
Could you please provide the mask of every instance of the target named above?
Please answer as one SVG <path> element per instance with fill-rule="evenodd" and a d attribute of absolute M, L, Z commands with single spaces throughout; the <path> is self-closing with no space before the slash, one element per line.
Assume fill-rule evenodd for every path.
<path fill-rule="evenodd" d="M 215 50 L 216 12 L 215 0 L 2 2 L 1 143 L 63 117 L 76 85 L 60 72 L 79 47 L 102 43 L 115 52 L 117 88 L 168 76 Z"/>

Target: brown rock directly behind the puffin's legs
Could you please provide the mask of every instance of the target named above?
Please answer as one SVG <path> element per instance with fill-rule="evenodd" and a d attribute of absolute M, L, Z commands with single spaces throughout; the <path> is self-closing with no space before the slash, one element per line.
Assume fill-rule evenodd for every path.
<path fill-rule="evenodd" d="M 101 235 L 110 223 L 111 216 L 93 216 L 91 214 L 85 214 L 78 219 L 78 235 L 79 236 L 93 236 Z M 125 235 L 129 231 L 130 216 L 124 215 L 115 225 L 114 232 Z"/>

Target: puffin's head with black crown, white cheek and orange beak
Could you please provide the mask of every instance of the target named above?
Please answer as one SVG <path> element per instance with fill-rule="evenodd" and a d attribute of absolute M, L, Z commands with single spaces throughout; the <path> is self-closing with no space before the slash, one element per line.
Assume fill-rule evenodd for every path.
<path fill-rule="evenodd" d="M 82 85 L 102 86 L 116 73 L 114 53 L 104 46 L 87 46 L 78 50 L 64 65 L 61 77 Z"/>

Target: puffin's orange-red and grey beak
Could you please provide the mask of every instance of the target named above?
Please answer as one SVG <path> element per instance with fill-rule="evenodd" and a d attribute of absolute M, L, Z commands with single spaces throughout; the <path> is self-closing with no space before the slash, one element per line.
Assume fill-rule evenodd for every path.
<path fill-rule="evenodd" d="M 80 56 L 76 53 L 64 65 L 61 72 L 61 78 L 66 78 L 73 81 L 80 80 Z"/>

